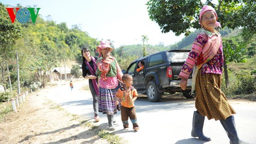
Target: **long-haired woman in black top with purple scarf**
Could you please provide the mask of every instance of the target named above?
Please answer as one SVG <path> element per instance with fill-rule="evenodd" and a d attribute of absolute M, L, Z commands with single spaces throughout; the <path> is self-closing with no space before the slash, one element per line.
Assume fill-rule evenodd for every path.
<path fill-rule="evenodd" d="M 98 57 L 92 57 L 88 48 L 84 47 L 81 50 L 83 57 L 82 71 L 83 77 L 89 79 L 89 87 L 93 97 L 93 110 L 94 110 L 94 119 L 96 122 L 100 121 L 99 117 L 99 106 L 98 106 L 98 93 L 99 87 L 97 83 L 97 76 L 95 72 L 97 70 L 96 60 Z"/>

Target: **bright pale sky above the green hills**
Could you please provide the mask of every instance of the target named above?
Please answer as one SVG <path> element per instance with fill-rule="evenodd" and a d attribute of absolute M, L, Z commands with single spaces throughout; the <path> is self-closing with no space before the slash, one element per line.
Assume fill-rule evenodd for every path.
<path fill-rule="evenodd" d="M 68 28 L 80 25 L 90 37 L 110 39 L 114 47 L 122 45 L 142 44 L 141 36 L 147 35 L 148 44 L 164 45 L 175 44 L 183 37 L 175 36 L 171 31 L 161 33 L 158 24 L 149 19 L 147 11 L 148 0 L 0 0 L 3 4 L 16 6 L 37 5 L 39 14 L 46 20 L 51 15 L 51 20 L 56 23 L 66 22 Z M 18 22 L 15 20 L 15 22 Z"/>

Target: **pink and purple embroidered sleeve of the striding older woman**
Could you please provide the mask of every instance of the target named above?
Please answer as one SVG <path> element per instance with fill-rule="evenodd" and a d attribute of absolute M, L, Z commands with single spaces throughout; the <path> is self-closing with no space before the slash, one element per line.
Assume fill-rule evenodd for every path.
<path fill-rule="evenodd" d="M 184 65 L 180 71 L 180 75 L 179 75 L 180 78 L 188 79 L 189 74 L 191 73 L 206 42 L 207 42 L 207 39 L 204 36 L 202 36 L 200 34 L 197 35 L 197 37 L 192 45 L 192 49 L 188 54 L 188 58 L 185 61 Z"/>

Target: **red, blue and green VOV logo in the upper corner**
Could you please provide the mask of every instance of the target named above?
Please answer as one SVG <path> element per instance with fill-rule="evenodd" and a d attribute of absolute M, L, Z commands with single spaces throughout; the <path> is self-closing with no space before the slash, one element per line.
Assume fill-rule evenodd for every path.
<path fill-rule="evenodd" d="M 14 7 L 6 7 L 6 10 L 9 13 L 12 23 L 14 23 L 15 18 L 17 18 L 17 20 L 20 23 L 27 23 L 29 21 L 30 17 L 31 17 L 32 22 L 35 23 L 37 14 L 41 8 L 36 8 L 37 13 L 35 14 L 35 11 L 34 11 L 35 8 L 20 9 L 19 7 L 15 7 L 16 15 L 14 14 L 13 9 L 14 9 Z"/>

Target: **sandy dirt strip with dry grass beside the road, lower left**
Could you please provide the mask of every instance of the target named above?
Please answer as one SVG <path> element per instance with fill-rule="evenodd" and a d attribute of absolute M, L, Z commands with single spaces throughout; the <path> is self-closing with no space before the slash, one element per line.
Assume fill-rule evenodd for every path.
<path fill-rule="evenodd" d="M 0 123 L 0 143 L 108 143 L 40 91 L 17 109 Z"/>

